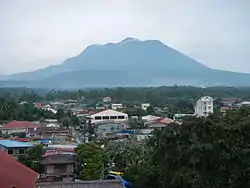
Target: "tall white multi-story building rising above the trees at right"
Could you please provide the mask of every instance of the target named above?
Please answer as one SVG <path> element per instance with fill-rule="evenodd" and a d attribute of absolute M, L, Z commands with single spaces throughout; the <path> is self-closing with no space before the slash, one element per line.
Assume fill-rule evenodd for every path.
<path fill-rule="evenodd" d="M 201 97 L 195 105 L 195 115 L 198 117 L 208 116 L 214 113 L 213 98 L 209 96 Z"/>

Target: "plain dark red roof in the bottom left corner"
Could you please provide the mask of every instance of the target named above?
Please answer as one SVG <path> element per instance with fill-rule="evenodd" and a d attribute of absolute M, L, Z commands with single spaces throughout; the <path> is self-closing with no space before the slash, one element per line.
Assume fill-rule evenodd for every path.
<path fill-rule="evenodd" d="M 38 173 L 0 150 L 0 187 L 34 188 Z"/>

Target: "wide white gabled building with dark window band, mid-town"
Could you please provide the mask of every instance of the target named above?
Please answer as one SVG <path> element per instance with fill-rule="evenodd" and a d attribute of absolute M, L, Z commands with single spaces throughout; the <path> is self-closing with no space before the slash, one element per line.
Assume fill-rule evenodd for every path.
<path fill-rule="evenodd" d="M 99 113 L 92 114 L 90 115 L 90 118 L 92 120 L 92 123 L 122 122 L 128 120 L 128 114 L 108 109 Z"/>

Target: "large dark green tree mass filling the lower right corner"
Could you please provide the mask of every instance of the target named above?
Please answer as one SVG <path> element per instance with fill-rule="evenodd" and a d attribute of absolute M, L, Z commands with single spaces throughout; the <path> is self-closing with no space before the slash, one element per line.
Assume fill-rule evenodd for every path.
<path fill-rule="evenodd" d="M 138 188 L 248 187 L 249 135 L 250 110 L 240 109 L 173 124 L 110 156 Z"/>

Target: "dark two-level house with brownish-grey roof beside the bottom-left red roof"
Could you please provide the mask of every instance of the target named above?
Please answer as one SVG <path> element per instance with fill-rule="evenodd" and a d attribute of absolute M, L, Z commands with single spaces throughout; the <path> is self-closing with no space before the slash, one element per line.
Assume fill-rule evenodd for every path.
<path fill-rule="evenodd" d="M 41 164 L 44 166 L 43 177 L 62 177 L 72 179 L 75 172 L 75 154 L 54 154 L 44 156 Z"/>

